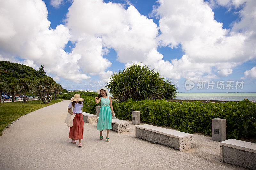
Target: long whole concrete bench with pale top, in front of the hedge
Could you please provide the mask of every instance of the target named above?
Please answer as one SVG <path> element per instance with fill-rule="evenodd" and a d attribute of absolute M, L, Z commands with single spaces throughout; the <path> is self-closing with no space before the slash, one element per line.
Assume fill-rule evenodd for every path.
<path fill-rule="evenodd" d="M 135 137 L 180 151 L 192 147 L 192 134 L 148 124 L 135 126 Z"/>

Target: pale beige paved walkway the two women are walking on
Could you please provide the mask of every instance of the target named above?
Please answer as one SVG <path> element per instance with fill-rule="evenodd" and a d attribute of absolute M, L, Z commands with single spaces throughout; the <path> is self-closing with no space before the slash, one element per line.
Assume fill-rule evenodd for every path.
<path fill-rule="evenodd" d="M 220 162 L 219 142 L 193 134 L 183 152 L 110 130 L 99 139 L 96 123 L 84 123 L 83 147 L 68 139 L 64 123 L 69 100 L 31 112 L 0 136 L 0 169 L 243 169 Z M 103 131 L 103 139 L 106 131 Z M 78 141 L 77 141 L 78 143 Z"/>

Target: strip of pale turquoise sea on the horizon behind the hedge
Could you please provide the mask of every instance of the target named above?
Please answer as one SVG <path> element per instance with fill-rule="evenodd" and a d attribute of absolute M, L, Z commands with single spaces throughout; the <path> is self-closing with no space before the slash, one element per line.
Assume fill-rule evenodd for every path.
<path fill-rule="evenodd" d="M 180 100 L 256 101 L 256 93 L 178 93 Z"/>

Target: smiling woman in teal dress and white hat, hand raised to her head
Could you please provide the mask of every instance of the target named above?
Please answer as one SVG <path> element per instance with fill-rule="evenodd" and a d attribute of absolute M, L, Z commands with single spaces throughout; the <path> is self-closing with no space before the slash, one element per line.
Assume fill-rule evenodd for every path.
<path fill-rule="evenodd" d="M 95 102 L 101 102 L 101 108 L 99 113 L 99 120 L 97 124 L 97 130 L 100 130 L 100 139 L 103 139 L 102 131 L 107 130 L 107 142 L 109 142 L 109 129 L 112 129 L 112 116 L 114 116 L 113 106 L 112 106 L 112 99 L 108 97 L 108 90 L 105 88 L 101 88 L 97 90 L 99 96 L 95 97 Z"/>

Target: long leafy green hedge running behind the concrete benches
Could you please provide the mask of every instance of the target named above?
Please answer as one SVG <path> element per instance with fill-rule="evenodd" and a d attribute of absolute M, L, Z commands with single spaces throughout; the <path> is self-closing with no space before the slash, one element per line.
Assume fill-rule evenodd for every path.
<path fill-rule="evenodd" d="M 249 100 L 226 103 L 167 102 L 166 100 L 142 100 L 115 103 L 116 117 L 132 119 L 132 110 L 139 110 L 144 123 L 170 126 L 186 133 L 202 132 L 212 135 L 212 119 L 227 121 L 227 138 L 256 136 L 256 103 Z"/>

